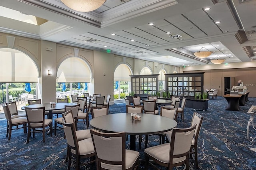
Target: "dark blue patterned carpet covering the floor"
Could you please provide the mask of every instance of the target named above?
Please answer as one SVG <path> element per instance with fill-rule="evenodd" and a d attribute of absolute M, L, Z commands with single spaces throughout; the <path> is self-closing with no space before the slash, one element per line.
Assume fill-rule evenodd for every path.
<path fill-rule="evenodd" d="M 209 101 L 207 111 L 197 111 L 204 116 L 202 129 L 198 138 L 198 163 L 200 169 L 206 170 L 256 170 L 256 152 L 250 148 L 256 147 L 256 142 L 249 142 L 246 138 L 246 127 L 250 115 L 246 114 L 252 105 L 256 105 L 256 98 L 249 97 L 246 106 L 241 111 L 226 111 L 227 101 L 223 97 Z M 124 113 L 125 104 L 119 103 L 110 106 L 111 114 Z M 178 128 L 190 127 L 194 110 L 185 108 L 185 121 L 178 118 Z M 91 119 L 91 116 L 90 116 Z M 0 119 L 0 169 L 1 170 L 64 170 L 68 165 L 66 158 L 66 139 L 64 131 L 58 130 L 57 135 L 46 135 L 46 142 L 42 142 L 42 134 L 37 133 L 26 144 L 27 134 L 22 129 L 13 130 L 11 140 L 6 138 L 6 119 Z M 78 123 L 78 130 L 86 125 Z M 252 136 L 255 130 L 250 128 Z M 144 158 L 143 136 L 140 157 Z M 129 141 L 129 140 L 128 140 Z M 129 148 L 129 142 L 126 143 Z M 159 144 L 158 136 L 149 136 L 148 146 Z M 136 146 L 136 148 L 138 148 Z M 144 162 L 140 162 L 143 169 Z M 160 169 L 165 169 L 159 167 Z M 177 169 L 181 169 L 177 168 Z M 196 169 L 195 161 L 190 160 L 190 170 Z M 72 164 L 72 169 L 74 165 Z M 95 164 L 80 166 L 80 169 L 94 170 Z M 153 169 L 150 167 L 150 169 Z"/>

